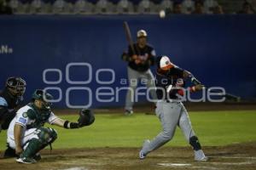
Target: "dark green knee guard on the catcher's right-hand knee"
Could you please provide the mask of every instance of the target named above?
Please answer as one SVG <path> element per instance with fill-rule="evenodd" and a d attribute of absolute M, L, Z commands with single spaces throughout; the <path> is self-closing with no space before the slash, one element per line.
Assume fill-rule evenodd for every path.
<path fill-rule="evenodd" d="M 38 130 L 38 139 L 42 144 L 51 144 L 57 139 L 57 132 L 53 128 L 40 127 Z"/>

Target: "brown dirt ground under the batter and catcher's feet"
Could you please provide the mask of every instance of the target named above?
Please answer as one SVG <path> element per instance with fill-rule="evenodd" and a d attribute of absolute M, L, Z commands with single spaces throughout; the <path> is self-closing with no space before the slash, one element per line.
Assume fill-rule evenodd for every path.
<path fill-rule="evenodd" d="M 167 147 L 155 150 L 145 160 L 139 160 L 137 148 L 99 148 L 75 150 L 43 150 L 43 159 L 37 164 L 16 163 L 13 158 L 0 159 L 3 170 L 99 170 L 99 169 L 256 169 L 256 142 L 228 146 L 206 147 L 210 160 L 193 161 L 189 147 Z"/>

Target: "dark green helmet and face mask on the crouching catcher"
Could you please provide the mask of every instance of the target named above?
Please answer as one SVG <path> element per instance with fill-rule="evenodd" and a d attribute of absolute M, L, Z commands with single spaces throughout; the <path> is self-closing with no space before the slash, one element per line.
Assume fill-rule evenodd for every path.
<path fill-rule="evenodd" d="M 44 90 L 42 89 L 37 89 L 33 94 L 32 94 L 32 99 L 38 99 L 40 101 L 43 101 L 43 108 L 44 110 L 49 110 L 52 103 L 50 102 L 50 100 L 53 99 L 53 96 L 49 93 L 46 93 Z"/>

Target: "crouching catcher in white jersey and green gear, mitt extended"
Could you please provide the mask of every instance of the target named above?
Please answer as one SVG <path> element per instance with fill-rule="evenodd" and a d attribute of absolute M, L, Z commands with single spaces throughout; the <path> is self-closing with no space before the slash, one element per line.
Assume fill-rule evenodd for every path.
<path fill-rule="evenodd" d="M 20 108 L 8 129 L 7 142 L 15 150 L 20 163 L 36 163 L 41 159 L 39 150 L 57 139 L 55 129 L 44 127 L 44 123 L 64 128 L 79 128 L 89 126 L 95 121 L 90 110 L 79 112 L 78 122 L 62 120 L 51 111 L 52 95 L 41 89 L 32 94 L 32 102 Z"/>

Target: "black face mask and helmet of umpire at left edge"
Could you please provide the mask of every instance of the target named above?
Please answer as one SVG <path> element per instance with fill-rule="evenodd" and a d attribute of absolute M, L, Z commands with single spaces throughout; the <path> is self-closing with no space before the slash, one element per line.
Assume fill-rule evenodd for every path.
<path fill-rule="evenodd" d="M 5 83 L 5 87 L 17 96 L 22 96 L 26 91 L 26 82 L 21 77 L 9 77 Z"/>

